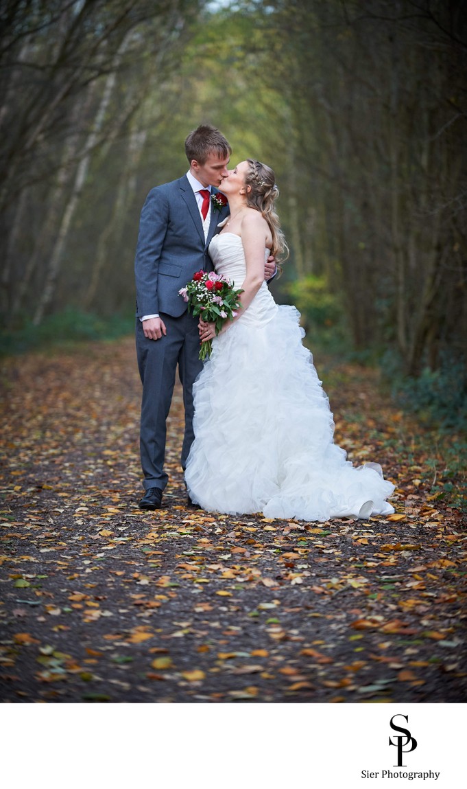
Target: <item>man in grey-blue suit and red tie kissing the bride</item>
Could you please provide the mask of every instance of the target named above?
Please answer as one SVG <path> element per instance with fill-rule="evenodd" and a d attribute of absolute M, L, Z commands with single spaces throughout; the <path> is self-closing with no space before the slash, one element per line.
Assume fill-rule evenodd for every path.
<path fill-rule="evenodd" d="M 161 507 L 169 477 L 164 471 L 165 421 L 169 415 L 178 365 L 183 387 L 185 434 L 181 464 L 186 466 L 194 439 L 192 387 L 198 359 L 198 318 L 179 296 L 195 271 L 211 270 L 209 241 L 228 207 L 215 208 L 211 196 L 223 178 L 232 148 L 210 125 L 198 126 L 185 140 L 190 169 L 182 178 L 151 189 L 139 222 L 135 256 L 136 353 L 143 382 L 139 447 L 145 495 L 143 510 Z M 265 276 L 275 266 L 267 264 Z"/>

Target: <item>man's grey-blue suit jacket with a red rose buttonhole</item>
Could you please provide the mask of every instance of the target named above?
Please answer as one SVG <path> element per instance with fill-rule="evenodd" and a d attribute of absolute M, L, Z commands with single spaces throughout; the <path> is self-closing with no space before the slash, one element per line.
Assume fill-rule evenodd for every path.
<path fill-rule="evenodd" d="M 209 241 L 227 216 L 228 207 L 217 211 L 211 205 L 205 241 L 195 193 L 186 175 L 151 189 L 141 211 L 135 256 L 138 317 L 159 312 L 175 318 L 183 315 L 187 304 L 178 292 L 195 271 L 212 269 Z"/>

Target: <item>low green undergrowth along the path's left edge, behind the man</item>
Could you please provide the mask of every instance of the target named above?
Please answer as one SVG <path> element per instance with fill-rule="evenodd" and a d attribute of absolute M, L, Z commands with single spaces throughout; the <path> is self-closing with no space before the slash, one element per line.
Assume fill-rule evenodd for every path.
<path fill-rule="evenodd" d="M 103 318 L 66 308 L 63 312 L 46 317 L 40 326 L 33 326 L 28 320 L 13 331 L 0 331 L 0 355 L 67 346 L 74 342 L 115 339 L 131 333 L 134 326 L 135 318 L 131 315 Z"/>

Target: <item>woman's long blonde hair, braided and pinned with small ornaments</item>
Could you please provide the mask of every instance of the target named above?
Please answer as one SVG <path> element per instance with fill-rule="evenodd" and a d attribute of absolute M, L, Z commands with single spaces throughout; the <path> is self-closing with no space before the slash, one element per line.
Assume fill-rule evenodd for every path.
<path fill-rule="evenodd" d="M 246 159 L 249 170 L 246 173 L 245 185 L 250 186 L 246 189 L 246 205 L 248 208 L 256 208 L 268 222 L 269 230 L 272 235 L 271 254 L 279 260 L 287 260 L 288 247 L 284 233 L 280 230 L 279 217 L 274 211 L 276 197 L 279 196 L 279 189 L 276 185 L 276 177 L 273 170 L 266 164 L 257 162 L 255 159 Z M 278 257 L 279 256 L 279 257 Z"/>

